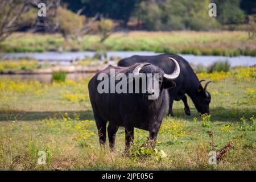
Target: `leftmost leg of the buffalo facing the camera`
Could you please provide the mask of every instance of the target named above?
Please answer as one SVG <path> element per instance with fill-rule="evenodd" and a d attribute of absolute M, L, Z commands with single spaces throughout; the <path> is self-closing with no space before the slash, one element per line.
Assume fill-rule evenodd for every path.
<path fill-rule="evenodd" d="M 95 115 L 94 115 L 95 117 Z M 106 121 L 104 121 L 101 118 L 95 117 L 97 129 L 98 129 L 98 138 L 100 142 L 101 152 L 102 148 L 104 148 L 105 151 L 105 142 L 106 142 Z"/>

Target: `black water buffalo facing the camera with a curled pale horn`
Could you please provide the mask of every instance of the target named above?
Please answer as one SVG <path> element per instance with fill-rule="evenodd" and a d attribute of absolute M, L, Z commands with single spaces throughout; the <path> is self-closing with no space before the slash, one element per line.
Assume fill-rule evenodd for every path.
<path fill-rule="evenodd" d="M 177 61 L 174 59 L 171 60 L 174 61 L 175 64 L 174 72 L 171 75 L 167 75 L 162 69 L 155 65 L 149 63 L 138 63 L 127 68 L 110 66 L 92 77 L 88 85 L 89 96 L 101 147 L 104 146 L 105 149 L 107 121 L 109 121 L 108 137 L 109 147 L 111 150 L 114 149 L 115 134 L 117 133 L 119 126 L 125 127 L 126 152 L 129 150 L 130 143 L 133 140 L 134 127 L 149 131 L 149 139 L 152 141 L 152 146 L 155 146 L 156 135 L 158 134 L 164 112 L 168 105 L 167 88 L 175 86 L 175 82 L 173 80 L 177 78 L 180 73 L 180 67 Z M 172 63 L 172 61 L 170 62 Z M 126 80 L 126 77 L 129 77 L 129 75 L 134 76 L 131 79 L 132 84 L 130 79 L 127 83 L 127 87 L 130 86 L 130 84 L 133 85 L 133 92 L 110 93 L 112 89 L 111 82 L 113 78 L 113 70 L 115 72 L 114 86 L 117 86 L 119 82 L 123 81 L 123 79 Z M 117 78 L 119 73 L 123 73 L 126 77 L 122 77 L 122 80 L 121 78 Z M 149 87 L 147 86 L 146 92 L 143 93 L 142 84 L 139 84 L 140 92 L 134 92 L 136 89 L 134 81 L 136 80 L 135 75 L 150 75 L 150 73 L 158 75 L 159 77 L 157 78 L 152 76 L 151 78 L 151 81 L 154 82 L 154 88 L 156 87 L 156 89 L 148 90 Z M 102 84 L 102 81 L 105 81 L 105 84 L 107 84 Z M 142 79 L 139 79 L 139 83 L 141 82 Z M 100 85 L 104 85 L 102 88 L 105 89 L 105 92 L 102 92 L 102 90 L 99 92 L 99 88 L 101 88 Z M 128 89 L 129 88 L 127 88 L 127 90 Z M 156 92 L 158 92 L 158 97 L 149 100 L 148 97 L 152 96 L 152 94 L 155 94 Z"/>

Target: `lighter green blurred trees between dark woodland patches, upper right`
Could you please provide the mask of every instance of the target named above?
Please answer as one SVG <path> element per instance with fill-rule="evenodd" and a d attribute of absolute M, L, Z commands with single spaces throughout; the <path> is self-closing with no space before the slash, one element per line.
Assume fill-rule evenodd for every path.
<path fill-rule="evenodd" d="M 209 30 L 218 23 L 209 17 L 208 6 L 209 0 L 150 0 L 141 2 L 135 15 L 146 30 Z"/>

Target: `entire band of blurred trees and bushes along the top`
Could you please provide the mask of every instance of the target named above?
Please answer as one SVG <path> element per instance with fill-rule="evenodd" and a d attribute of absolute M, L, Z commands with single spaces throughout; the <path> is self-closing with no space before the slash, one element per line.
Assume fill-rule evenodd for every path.
<path fill-rule="evenodd" d="M 47 5 L 46 17 L 37 16 L 40 2 Z M 210 2 L 217 3 L 217 18 L 208 15 Z M 62 9 L 57 12 L 60 5 Z M 2 0 L 0 41 L 17 30 L 60 31 L 67 41 L 79 40 L 82 35 L 92 32 L 93 26 L 99 28 L 99 22 L 94 24 L 96 20 L 101 21 L 99 14 L 108 19 L 108 26 L 101 26 L 102 41 L 112 31 L 113 23 L 110 23 L 110 19 L 119 28 L 131 28 L 134 26 L 134 19 L 138 19 L 141 26 L 137 28 L 150 31 L 212 30 L 221 27 L 220 25 L 224 25 L 224 28 L 236 28 L 245 23 L 247 14 L 256 14 L 255 7 L 254 0 Z M 58 14 L 65 18 L 61 19 Z M 127 27 L 129 20 L 132 21 Z M 131 24 L 133 25 L 130 26 Z M 243 27 L 245 30 L 245 26 Z M 94 32 L 99 33 L 99 30 Z"/>

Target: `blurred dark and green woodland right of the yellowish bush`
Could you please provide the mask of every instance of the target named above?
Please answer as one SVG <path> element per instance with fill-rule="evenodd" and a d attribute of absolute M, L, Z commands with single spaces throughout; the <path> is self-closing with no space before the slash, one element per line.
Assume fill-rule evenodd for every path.
<path fill-rule="evenodd" d="M 253 0 L 80 0 L 74 3 L 63 0 L 68 9 L 76 12 L 82 7 L 82 14 L 96 13 L 114 20 L 121 20 L 127 26 L 131 19 L 137 20 L 137 27 L 144 30 L 211 30 L 223 24 L 246 22 L 246 14 L 255 14 Z M 216 3 L 217 17 L 208 15 L 209 3 Z M 231 26 L 234 29 L 234 26 Z"/>

